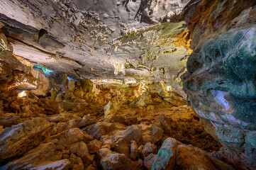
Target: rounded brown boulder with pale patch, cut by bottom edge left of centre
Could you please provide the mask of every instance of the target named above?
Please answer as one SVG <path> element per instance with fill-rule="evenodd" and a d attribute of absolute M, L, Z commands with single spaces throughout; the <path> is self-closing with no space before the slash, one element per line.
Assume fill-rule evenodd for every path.
<path fill-rule="evenodd" d="M 99 159 L 99 166 L 104 170 L 130 169 L 129 159 L 125 154 L 118 154 L 110 149 L 103 148 L 99 149 L 97 157 Z"/>

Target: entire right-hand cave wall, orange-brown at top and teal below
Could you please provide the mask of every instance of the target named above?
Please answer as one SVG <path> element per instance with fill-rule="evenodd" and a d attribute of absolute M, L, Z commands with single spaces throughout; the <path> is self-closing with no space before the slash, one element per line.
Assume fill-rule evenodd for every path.
<path fill-rule="evenodd" d="M 194 52 L 184 81 L 201 124 L 226 159 L 245 169 L 256 167 L 255 4 L 201 2 L 189 23 Z"/>

